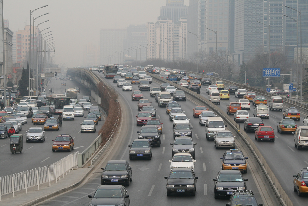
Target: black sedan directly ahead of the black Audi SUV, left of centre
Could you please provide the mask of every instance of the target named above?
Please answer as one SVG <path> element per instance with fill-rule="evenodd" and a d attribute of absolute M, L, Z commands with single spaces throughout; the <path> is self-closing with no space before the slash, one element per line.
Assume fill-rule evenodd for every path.
<path fill-rule="evenodd" d="M 132 142 L 129 147 L 129 159 L 139 157 L 146 157 L 148 159 L 152 158 L 152 146 L 147 139 L 136 139 Z"/>

